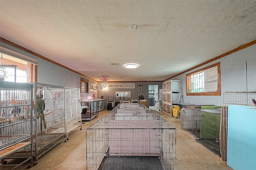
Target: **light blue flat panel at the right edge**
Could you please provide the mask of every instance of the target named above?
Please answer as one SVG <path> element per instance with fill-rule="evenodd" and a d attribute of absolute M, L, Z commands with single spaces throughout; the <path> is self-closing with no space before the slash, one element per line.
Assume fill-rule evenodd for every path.
<path fill-rule="evenodd" d="M 228 106 L 227 152 L 234 170 L 256 170 L 256 107 Z"/>

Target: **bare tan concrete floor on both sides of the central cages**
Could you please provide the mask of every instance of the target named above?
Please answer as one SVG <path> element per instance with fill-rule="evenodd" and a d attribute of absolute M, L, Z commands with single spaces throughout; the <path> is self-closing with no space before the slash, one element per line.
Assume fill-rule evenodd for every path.
<path fill-rule="evenodd" d="M 177 169 L 178 170 L 232 170 L 227 162 L 196 142 L 193 136 L 180 130 L 180 120 L 165 115 L 155 107 L 150 107 L 163 119 L 176 127 Z M 30 170 L 86 170 L 86 128 L 108 114 L 106 109 L 100 111 L 98 117 L 91 122 L 84 122 L 82 130 L 69 136 L 67 142 L 60 143 L 38 160 L 38 164 Z M 15 170 L 26 170 L 28 164 L 23 164 Z M 10 170 L 11 167 L 1 167 Z"/>

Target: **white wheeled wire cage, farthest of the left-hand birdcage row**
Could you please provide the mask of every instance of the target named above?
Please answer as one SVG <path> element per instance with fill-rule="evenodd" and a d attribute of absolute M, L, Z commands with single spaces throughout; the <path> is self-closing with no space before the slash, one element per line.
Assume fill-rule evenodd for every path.
<path fill-rule="evenodd" d="M 65 131 L 68 135 L 80 127 L 82 130 L 81 100 L 79 88 L 65 87 Z"/>

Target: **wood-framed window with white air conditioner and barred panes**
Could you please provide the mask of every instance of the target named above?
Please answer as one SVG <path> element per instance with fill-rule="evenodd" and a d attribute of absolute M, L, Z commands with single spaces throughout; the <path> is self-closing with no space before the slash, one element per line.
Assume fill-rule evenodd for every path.
<path fill-rule="evenodd" d="M 187 96 L 220 96 L 220 62 L 186 74 Z"/>

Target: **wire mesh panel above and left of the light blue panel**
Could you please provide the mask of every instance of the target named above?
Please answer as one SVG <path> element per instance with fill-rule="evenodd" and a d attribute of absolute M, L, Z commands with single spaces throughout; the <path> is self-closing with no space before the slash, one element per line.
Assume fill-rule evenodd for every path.
<path fill-rule="evenodd" d="M 227 160 L 227 141 L 228 141 L 228 105 L 243 105 L 243 106 L 255 106 L 253 100 L 256 100 L 256 91 L 248 92 L 224 92 L 223 93 L 223 107 L 220 133 L 222 141 L 222 160 Z"/>

